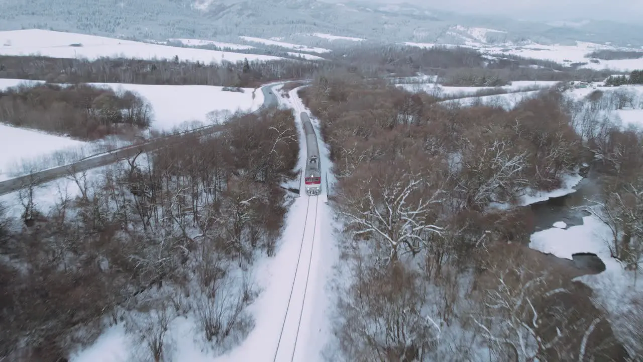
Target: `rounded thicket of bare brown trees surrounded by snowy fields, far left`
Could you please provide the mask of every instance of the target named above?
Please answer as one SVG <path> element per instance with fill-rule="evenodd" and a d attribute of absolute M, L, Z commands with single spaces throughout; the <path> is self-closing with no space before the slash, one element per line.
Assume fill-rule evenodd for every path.
<path fill-rule="evenodd" d="M 17 127 L 95 140 L 149 127 L 152 107 L 132 91 L 89 84 L 23 84 L 0 91 L 0 118 Z"/>

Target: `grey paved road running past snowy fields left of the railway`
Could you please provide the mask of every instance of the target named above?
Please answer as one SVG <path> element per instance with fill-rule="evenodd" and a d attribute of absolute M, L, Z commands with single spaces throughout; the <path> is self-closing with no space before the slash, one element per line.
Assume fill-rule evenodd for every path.
<path fill-rule="evenodd" d="M 277 97 L 272 93 L 272 90 L 271 90 L 271 88 L 273 88 L 273 86 L 275 85 L 276 84 L 269 84 L 261 88 L 261 91 L 264 93 L 264 103 L 255 112 L 258 112 L 264 108 L 271 108 L 279 105 Z M 201 133 L 202 135 L 208 135 L 211 133 L 222 131 L 223 129 L 226 129 L 226 128 L 227 128 L 226 125 L 206 126 L 203 128 L 194 129 L 192 131 L 182 133 L 182 135 L 185 135 L 186 133 Z M 82 171 L 87 171 L 88 169 L 93 169 L 96 167 L 113 164 L 118 160 L 123 160 L 125 158 L 132 157 L 139 152 L 145 153 L 149 151 L 154 151 L 154 149 L 158 149 L 163 145 L 167 145 L 168 142 L 172 142 L 173 139 L 178 140 L 179 135 L 172 135 L 164 138 L 150 140 L 147 143 L 136 145 L 136 146 L 128 146 L 125 148 L 114 149 L 109 153 L 102 153 L 97 156 L 87 157 L 70 165 L 46 169 L 44 171 L 32 173 L 31 175 L 24 175 L 17 178 L 11 178 L 9 180 L 0 182 L 0 195 L 6 195 L 8 193 L 18 191 L 19 189 L 23 189 L 30 185 L 44 184 L 45 182 L 50 182 L 57 178 L 73 175 L 74 173 L 78 173 Z"/>

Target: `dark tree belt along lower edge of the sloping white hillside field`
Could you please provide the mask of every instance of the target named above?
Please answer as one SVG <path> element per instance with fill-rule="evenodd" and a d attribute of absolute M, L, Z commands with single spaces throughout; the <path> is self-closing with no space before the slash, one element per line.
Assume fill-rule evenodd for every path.
<path fill-rule="evenodd" d="M 257 87 L 279 79 L 303 79 L 322 64 L 309 61 L 223 61 L 221 64 L 181 59 L 148 61 L 100 58 L 58 59 L 50 57 L 0 56 L 0 77 L 33 79 L 54 83 L 195 84 L 206 86 Z M 328 66 L 328 65 L 326 65 Z"/>

